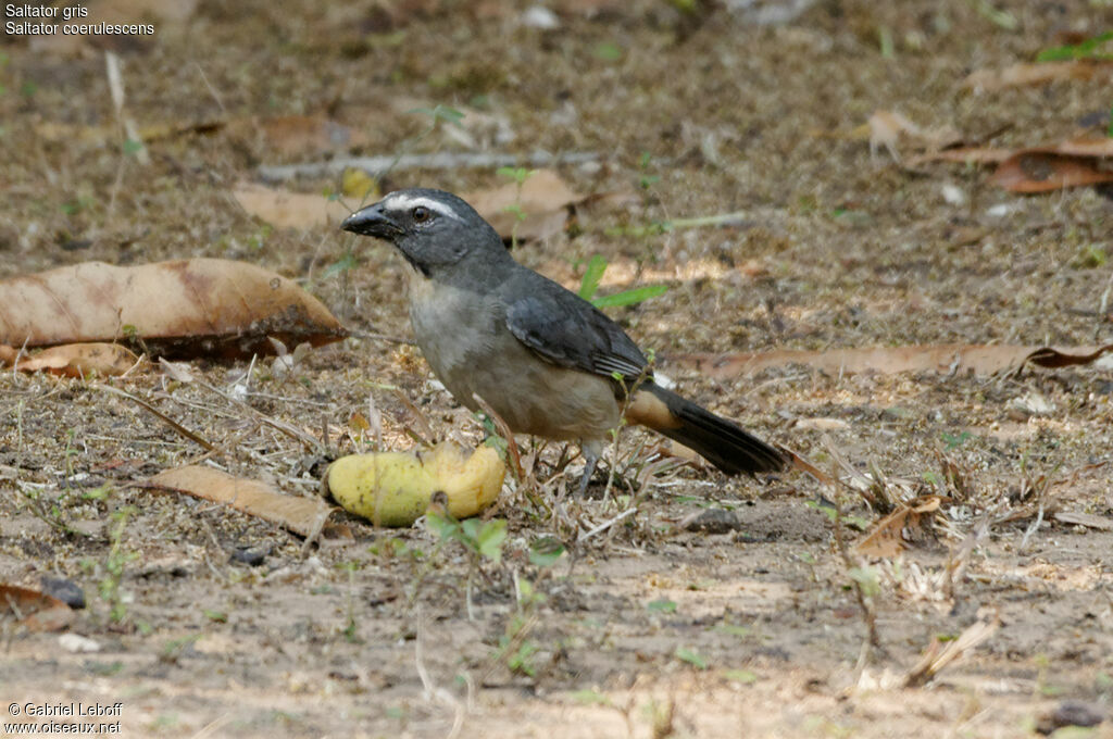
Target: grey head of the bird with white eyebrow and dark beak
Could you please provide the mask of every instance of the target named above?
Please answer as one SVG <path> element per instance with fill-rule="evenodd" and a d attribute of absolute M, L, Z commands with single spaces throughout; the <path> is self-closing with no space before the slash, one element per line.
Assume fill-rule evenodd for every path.
<path fill-rule="evenodd" d="M 469 256 L 506 256 L 494 228 L 472 206 L 444 190 L 396 190 L 353 213 L 341 228 L 390 242 L 426 277 Z"/>

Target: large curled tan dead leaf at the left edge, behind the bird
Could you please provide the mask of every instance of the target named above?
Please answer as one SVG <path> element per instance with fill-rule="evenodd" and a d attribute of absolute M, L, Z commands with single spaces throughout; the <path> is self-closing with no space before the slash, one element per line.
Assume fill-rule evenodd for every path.
<path fill-rule="evenodd" d="M 0 344 L 140 345 L 169 356 L 250 356 L 326 344 L 345 329 L 317 298 L 262 267 L 227 259 L 116 267 L 89 262 L 0 282 Z"/>

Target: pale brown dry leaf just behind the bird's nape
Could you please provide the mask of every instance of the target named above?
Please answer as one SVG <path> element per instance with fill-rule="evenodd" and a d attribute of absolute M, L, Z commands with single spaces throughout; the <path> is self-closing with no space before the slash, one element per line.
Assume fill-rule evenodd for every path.
<path fill-rule="evenodd" d="M 568 220 L 569 206 L 584 199 L 551 169 L 539 169 L 522 183 L 475 190 L 461 196 L 487 220 L 503 238 L 541 239 L 559 234 Z M 525 215 L 519 220 L 516 209 Z M 515 228 L 516 226 L 516 228 Z"/>

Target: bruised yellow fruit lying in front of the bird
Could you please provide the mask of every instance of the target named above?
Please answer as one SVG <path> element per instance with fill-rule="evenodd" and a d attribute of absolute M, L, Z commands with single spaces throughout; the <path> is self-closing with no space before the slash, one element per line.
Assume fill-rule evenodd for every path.
<path fill-rule="evenodd" d="M 429 509 L 436 492 L 449 512 L 466 519 L 491 505 L 502 490 L 506 467 L 499 453 L 481 446 L 471 456 L 451 443 L 422 455 L 402 452 L 352 454 L 328 466 L 325 482 L 345 511 L 376 526 L 408 526 Z"/>

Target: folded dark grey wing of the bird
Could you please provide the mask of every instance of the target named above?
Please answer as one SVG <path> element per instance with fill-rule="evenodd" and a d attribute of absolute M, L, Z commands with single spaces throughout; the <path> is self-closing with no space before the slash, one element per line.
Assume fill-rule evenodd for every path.
<path fill-rule="evenodd" d="M 503 290 L 506 325 L 541 358 L 603 377 L 652 378 L 641 349 L 602 311 L 536 273 L 514 283 Z"/>

